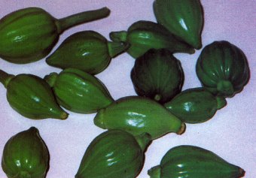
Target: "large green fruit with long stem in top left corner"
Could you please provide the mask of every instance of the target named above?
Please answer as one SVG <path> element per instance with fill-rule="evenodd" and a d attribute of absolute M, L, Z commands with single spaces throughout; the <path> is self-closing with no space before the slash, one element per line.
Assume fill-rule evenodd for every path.
<path fill-rule="evenodd" d="M 107 17 L 108 8 L 57 20 L 41 8 L 24 8 L 0 20 L 0 57 L 8 62 L 35 62 L 50 53 L 66 29 Z"/>

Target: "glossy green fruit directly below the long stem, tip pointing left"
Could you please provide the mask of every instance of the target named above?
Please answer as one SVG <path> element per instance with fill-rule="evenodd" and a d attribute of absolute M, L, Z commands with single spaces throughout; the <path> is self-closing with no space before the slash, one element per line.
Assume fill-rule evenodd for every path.
<path fill-rule="evenodd" d="M 107 41 L 98 32 L 77 32 L 66 38 L 46 62 L 57 68 L 78 68 L 89 74 L 98 74 L 128 47 L 122 42 Z"/>

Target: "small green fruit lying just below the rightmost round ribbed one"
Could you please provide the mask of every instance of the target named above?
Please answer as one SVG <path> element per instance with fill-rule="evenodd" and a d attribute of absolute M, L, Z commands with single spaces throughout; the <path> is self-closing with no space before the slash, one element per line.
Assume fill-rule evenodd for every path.
<path fill-rule="evenodd" d="M 222 97 L 212 95 L 207 89 L 186 89 L 164 106 L 178 119 L 186 123 L 206 122 L 216 111 L 227 104 Z"/>

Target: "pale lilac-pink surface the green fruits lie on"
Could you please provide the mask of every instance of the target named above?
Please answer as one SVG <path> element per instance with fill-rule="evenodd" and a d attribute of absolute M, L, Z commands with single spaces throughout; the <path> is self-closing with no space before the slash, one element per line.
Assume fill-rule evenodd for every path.
<path fill-rule="evenodd" d="M 108 18 L 64 32 L 56 47 L 75 32 L 95 30 L 108 38 L 109 32 L 126 30 L 137 20 L 156 21 L 152 0 L 75 0 L 70 2 L 68 0 L 1 1 L 0 17 L 30 6 L 44 8 L 56 18 L 105 6 L 111 9 Z M 155 140 L 146 152 L 145 165 L 139 178 L 149 177 L 148 169 L 159 164 L 160 159 L 170 148 L 181 144 L 209 149 L 230 163 L 244 168 L 245 177 L 256 177 L 256 94 L 254 92 L 256 86 L 256 1 L 202 0 L 201 2 L 205 12 L 203 47 L 217 40 L 230 41 L 240 47 L 248 58 L 251 79 L 245 89 L 235 97 L 228 98 L 227 107 L 219 110 L 208 122 L 197 125 L 187 124 L 187 131 L 181 136 L 166 134 Z M 184 68 L 183 89 L 200 86 L 195 73 L 195 64 L 199 55 L 200 50 L 194 55 L 175 54 Z M 136 95 L 130 80 L 130 70 L 133 64 L 134 59 L 125 53 L 113 59 L 108 68 L 97 75 L 105 83 L 114 99 Z M 29 73 L 39 77 L 44 77 L 52 71 L 60 71 L 48 66 L 44 59 L 28 65 L 14 65 L 0 60 L 0 68 L 11 74 Z M 37 127 L 50 151 L 50 170 L 47 178 L 74 177 L 89 143 L 105 131 L 93 125 L 95 114 L 83 115 L 69 112 L 69 119 L 65 121 L 26 119 L 11 109 L 5 97 L 4 86 L 0 86 L 0 98 L 0 154 L 2 155 L 2 149 L 11 136 L 31 126 Z M 0 178 L 4 177 L 6 177 L 5 173 L 0 169 Z"/>

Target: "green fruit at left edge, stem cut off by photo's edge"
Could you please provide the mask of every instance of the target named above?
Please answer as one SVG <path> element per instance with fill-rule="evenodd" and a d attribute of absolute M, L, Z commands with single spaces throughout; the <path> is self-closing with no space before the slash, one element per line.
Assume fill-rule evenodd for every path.
<path fill-rule="evenodd" d="M 7 89 L 11 107 L 29 119 L 66 119 L 68 113 L 56 103 L 46 81 L 32 74 L 7 74 L 0 70 L 0 82 Z"/>

